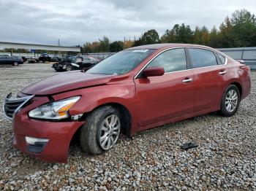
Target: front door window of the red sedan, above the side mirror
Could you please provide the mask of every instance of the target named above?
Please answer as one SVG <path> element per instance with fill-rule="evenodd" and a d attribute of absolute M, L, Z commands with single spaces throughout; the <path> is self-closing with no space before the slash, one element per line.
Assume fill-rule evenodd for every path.
<path fill-rule="evenodd" d="M 146 68 L 163 67 L 165 73 L 187 69 L 187 59 L 184 48 L 167 50 L 154 58 Z"/>

